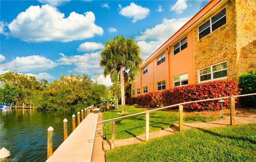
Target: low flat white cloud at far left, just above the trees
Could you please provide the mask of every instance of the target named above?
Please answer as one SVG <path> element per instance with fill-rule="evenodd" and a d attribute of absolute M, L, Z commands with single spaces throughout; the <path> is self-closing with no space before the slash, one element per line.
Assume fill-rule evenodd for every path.
<path fill-rule="evenodd" d="M 10 71 L 44 71 L 58 66 L 54 61 L 39 55 L 16 57 L 11 62 L 4 63 L 1 68 Z"/>

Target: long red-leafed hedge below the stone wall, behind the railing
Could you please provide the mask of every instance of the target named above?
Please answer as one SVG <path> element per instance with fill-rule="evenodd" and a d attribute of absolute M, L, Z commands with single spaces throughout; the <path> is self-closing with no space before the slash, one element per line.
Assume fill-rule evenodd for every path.
<path fill-rule="evenodd" d="M 213 99 L 219 97 L 228 97 L 238 95 L 237 84 L 234 81 L 213 81 L 182 87 L 166 89 L 162 92 L 162 103 L 164 106 L 184 103 L 188 101 L 197 101 L 203 99 Z M 229 99 L 224 99 L 223 108 L 229 106 Z M 204 109 L 221 109 L 218 100 L 190 103 L 183 105 L 187 109 L 204 110 Z"/>

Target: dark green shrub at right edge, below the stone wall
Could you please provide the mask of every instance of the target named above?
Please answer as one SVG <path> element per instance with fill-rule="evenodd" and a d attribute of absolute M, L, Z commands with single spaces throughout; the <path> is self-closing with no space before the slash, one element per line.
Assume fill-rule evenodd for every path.
<path fill-rule="evenodd" d="M 238 87 L 242 89 L 241 95 L 256 93 L 256 73 L 250 71 L 240 75 Z M 241 97 L 239 103 L 248 107 L 256 107 L 256 95 Z"/>

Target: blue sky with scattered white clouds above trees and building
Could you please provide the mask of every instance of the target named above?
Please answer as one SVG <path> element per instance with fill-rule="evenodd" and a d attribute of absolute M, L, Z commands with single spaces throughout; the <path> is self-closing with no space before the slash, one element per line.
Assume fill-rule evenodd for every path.
<path fill-rule="evenodd" d="M 133 38 L 146 59 L 209 0 L 0 0 L 0 73 L 52 82 L 87 74 L 111 85 L 99 66 L 104 44 Z"/>

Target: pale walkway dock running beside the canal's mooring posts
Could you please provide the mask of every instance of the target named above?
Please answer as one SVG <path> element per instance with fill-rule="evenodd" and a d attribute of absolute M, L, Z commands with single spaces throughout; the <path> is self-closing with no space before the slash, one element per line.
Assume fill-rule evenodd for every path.
<path fill-rule="evenodd" d="M 98 121 L 99 111 L 93 109 L 46 162 L 91 162 L 96 133 L 92 124 Z"/>

